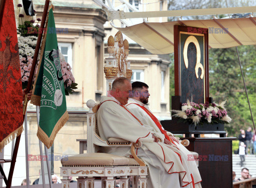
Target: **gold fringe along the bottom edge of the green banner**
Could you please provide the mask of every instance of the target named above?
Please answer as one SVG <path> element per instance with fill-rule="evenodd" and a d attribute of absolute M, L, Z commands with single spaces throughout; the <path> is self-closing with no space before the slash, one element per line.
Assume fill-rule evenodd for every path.
<path fill-rule="evenodd" d="M 43 131 L 43 129 L 41 127 L 38 126 L 38 130 L 37 130 L 37 137 L 39 138 L 39 140 L 41 140 L 44 145 L 49 149 L 53 142 L 54 142 L 54 138 L 56 137 L 57 133 L 59 132 L 59 130 L 65 125 L 65 123 L 68 121 L 68 112 L 66 111 L 65 113 L 63 113 L 63 115 L 61 116 L 61 118 L 59 119 L 59 121 L 57 122 L 57 124 L 54 126 L 53 130 L 52 130 L 52 134 L 50 137 L 48 137 L 45 132 Z"/>

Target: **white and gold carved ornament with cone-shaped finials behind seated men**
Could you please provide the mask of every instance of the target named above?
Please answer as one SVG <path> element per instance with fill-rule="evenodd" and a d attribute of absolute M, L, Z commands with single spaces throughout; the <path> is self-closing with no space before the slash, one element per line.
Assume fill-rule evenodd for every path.
<path fill-rule="evenodd" d="M 126 39 L 123 39 L 121 31 L 118 31 L 115 37 L 108 37 L 108 54 L 106 66 L 104 67 L 108 86 L 107 92 L 111 90 L 115 78 L 122 76 L 131 79 L 132 77 L 131 62 L 127 60 L 129 43 Z"/>

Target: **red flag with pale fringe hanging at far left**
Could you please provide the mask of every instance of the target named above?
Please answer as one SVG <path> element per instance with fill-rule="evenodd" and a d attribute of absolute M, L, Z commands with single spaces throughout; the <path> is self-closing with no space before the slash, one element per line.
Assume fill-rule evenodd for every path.
<path fill-rule="evenodd" d="M 0 25 L 0 150 L 2 150 L 23 130 L 22 86 L 13 0 L 5 1 Z"/>

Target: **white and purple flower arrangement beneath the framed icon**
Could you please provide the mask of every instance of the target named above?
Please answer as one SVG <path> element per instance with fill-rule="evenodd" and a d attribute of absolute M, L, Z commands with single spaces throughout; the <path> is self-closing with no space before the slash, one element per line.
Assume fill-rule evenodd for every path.
<path fill-rule="evenodd" d="M 205 103 L 197 104 L 194 102 L 183 103 L 181 110 L 172 110 L 175 114 L 174 117 L 180 118 L 183 122 L 193 122 L 195 125 L 204 124 L 229 124 L 231 118 L 227 115 L 227 111 L 224 107 L 226 101 L 220 104 Z"/>

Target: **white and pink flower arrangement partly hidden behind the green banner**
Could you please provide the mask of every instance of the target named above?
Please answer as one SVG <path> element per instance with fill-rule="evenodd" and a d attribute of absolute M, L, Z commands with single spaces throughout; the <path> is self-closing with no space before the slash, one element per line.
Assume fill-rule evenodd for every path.
<path fill-rule="evenodd" d="M 22 4 L 20 0 L 14 2 L 15 6 L 15 18 L 17 25 L 18 44 L 19 44 L 19 55 L 20 55 L 20 68 L 21 68 L 21 81 L 22 88 L 26 88 L 28 84 L 28 78 L 30 75 L 30 69 L 32 66 L 34 53 L 36 49 L 38 30 L 39 30 L 39 21 L 41 19 L 36 19 L 36 16 L 33 17 L 27 16 L 25 12 L 21 9 Z M 34 10 L 34 12 L 36 12 Z M 35 20 L 37 23 L 35 23 Z M 28 30 L 29 29 L 29 30 Z M 30 32 L 32 31 L 32 32 Z M 36 32 L 35 32 L 36 31 Z M 77 84 L 75 83 L 75 78 L 71 72 L 71 67 L 66 62 L 64 56 L 60 54 L 61 62 L 61 72 L 65 85 L 65 94 L 69 95 L 74 92 Z"/>

